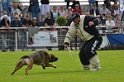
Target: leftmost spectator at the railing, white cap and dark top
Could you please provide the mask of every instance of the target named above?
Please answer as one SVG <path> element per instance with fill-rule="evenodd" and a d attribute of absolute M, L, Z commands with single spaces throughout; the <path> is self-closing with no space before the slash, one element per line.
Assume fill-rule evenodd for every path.
<path fill-rule="evenodd" d="M 10 21 L 8 20 L 8 16 L 4 15 L 3 19 L 1 20 L 1 27 L 7 28 L 8 31 L 10 31 Z M 8 49 L 6 38 L 8 36 L 8 32 L 6 30 L 1 31 L 1 38 L 2 38 L 2 51 L 6 52 Z"/>

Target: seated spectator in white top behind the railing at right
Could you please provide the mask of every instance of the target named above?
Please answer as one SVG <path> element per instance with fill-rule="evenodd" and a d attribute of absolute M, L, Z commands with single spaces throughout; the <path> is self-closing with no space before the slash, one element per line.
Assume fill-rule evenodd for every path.
<path fill-rule="evenodd" d="M 114 23 L 114 20 L 112 20 L 112 16 L 111 15 L 109 15 L 108 16 L 108 20 L 106 20 L 106 23 L 105 23 L 105 25 L 106 25 L 106 32 L 113 32 L 113 28 L 115 28 L 115 23 Z"/>

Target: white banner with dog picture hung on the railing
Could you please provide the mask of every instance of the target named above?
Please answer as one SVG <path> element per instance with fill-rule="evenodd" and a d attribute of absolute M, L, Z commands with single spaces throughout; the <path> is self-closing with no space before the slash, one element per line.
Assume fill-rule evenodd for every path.
<path fill-rule="evenodd" d="M 34 43 L 31 46 L 58 46 L 57 31 L 39 31 L 34 34 Z"/>

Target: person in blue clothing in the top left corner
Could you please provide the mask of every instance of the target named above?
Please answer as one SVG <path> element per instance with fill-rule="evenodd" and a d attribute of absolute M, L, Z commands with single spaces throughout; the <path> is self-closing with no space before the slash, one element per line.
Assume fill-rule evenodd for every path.
<path fill-rule="evenodd" d="M 10 15 L 10 11 L 11 11 L 11 2 L 10 0 L 2 0 L 2 8 L 3 11 L 7 11 L 7 15 Z"/>

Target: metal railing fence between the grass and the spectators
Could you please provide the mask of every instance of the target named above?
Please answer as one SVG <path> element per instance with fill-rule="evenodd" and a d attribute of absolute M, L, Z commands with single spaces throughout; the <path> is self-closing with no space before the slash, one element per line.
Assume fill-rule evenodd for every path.
<path fill-rule="evenodd" d="M 43 31 L 43 29 L 49 28 L 49 27 L 39 27 L 39 31 Z M 57 26 L 56 28 L 60 28 Z M 105 26 L 97 26 L 100 34 L 105 37 L 105 34 L 109 33 L 121 33 L 123 32 L 123 29 L 113 29 L 113 32 L 105 32 L 106 28 Z M 110 30 L 110 29 L 107 29 Z M 58 45 L 62 44 L 65 38 L 65 35 L 68 31 L 68 26 L 62 26 L 62 30 L 57 30 L 57 37 L 58 37 Z M 0 49 L 8 48 L 8 49 L 32 49 L 33 47 L 27 46 L 29 43 L 29 31 L 27 30 L 27 27 L 10 27 L 10 31 L 8 31 L 6 28 L 0 28 Z M 45 36 L 45 35 L 44 35 Z M 73 41 L 71 42 L 70 47 L 73 49 L 79 49 L 80 45 L 83 43 L 83 41 L 78 37 L 75 36 Z M 36 49 L 46 49 L 46 46 L 35 46 Z M 58 49 L 58 46 L 52 46 L 53 49 Z"/>

